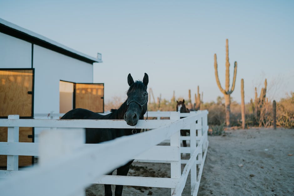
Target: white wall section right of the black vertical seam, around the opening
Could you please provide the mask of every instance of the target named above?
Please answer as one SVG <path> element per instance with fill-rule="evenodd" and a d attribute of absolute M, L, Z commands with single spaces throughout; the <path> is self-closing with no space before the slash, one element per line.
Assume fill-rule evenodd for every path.
<path fill-rule="evenodd" d="M 59 113 L 59 80 L 93 83 L 93 65 L 34 45 L 34 113 Z"/>

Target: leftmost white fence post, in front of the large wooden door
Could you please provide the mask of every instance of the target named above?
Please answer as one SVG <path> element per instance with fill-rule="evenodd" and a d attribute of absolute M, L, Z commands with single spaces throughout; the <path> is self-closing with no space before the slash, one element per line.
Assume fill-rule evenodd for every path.
<path fill-rule="evenodd" d="M 8 115 L 8 119 L 19 119 L 19 115 Z M 7 142 L 18 142 L 19 127 L 8 127 Z M 7 170 L 18 170 L 18 155 L 7 155 Z"/>

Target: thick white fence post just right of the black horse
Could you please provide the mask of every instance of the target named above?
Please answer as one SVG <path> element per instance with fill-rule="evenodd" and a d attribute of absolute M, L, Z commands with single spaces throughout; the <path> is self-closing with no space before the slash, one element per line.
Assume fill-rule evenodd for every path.
<path fill-rule="evenodd" d="M 180 113 L 179 112 L 170 112 L 170 120 L 179 120 Z M 180 142 L 180 130 L 178 130 L 175 134 L 170 136 L 170 146 L 178 147 L 178 161 L 170 162 L 170 178 L 178 178 L 181 177 L 181 142 Z M 171 189 L 171 195 L 173 194 L 174 188 Z"/>

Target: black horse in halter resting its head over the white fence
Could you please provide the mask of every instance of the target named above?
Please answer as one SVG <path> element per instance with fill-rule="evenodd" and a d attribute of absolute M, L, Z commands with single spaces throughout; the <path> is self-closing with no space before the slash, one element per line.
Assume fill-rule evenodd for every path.
<path fill-rule="evenodd" d="M 64 114 L 61 119 L 124 119 L 127 124 L 134 126 L 139 119 L 143 119 L 147 111 L 148 93 L 148 75 L 145 73 L 143 82 L 134 82 L 131 74 L 128 75 L 129 90 L 127 100 L 118 109 L 112 109 L 111 113 L 101 115 L 92 111 L 77 108 Z M 107 129 L 107 128 L 86 128 L 86 143 L 100 143 L 109 141 L 125 135 L 139 133 L 140 129 Z M 129 172 L 129 163 L 117 168 L 117 175 L 126 176 Z M 112 175 L 112 172 L 108 175 Z M 111 184 L 104 184 L 105 196 L 112 196 Z M 121 196 L 123 191 L 122 185 L 116 185 L 115 196 Z"/>

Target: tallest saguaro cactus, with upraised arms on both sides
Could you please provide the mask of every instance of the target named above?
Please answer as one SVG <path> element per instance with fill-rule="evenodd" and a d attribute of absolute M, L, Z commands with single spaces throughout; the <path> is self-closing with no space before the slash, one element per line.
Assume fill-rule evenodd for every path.
<path fill-rule="evenodd" d="M 217 61 L 216 61 L 216 54 L 214 54 L 214 69 L 215 69 L 215 79 L 218 88 L 220 91 L 224 94 L 225 97 L 225 107 L 226 107 L 226 126 L 230 126 L 230 105 L 231 105 L 231 94 L 233 93 L 235 89 L 235 83 L 236 83 L 236 75 L 237 75 L 237 62 L 235 61 L 234 65 L 234 78 L 233 78 L 233 84 L 230 90 L 230 63 L 229 63 L 229 47 L 228 47 L 228 39 L 226 39 L 226 84 L 225 89 L 221 87 L 220 79 L 218 77 L 217 72 Z"/>

